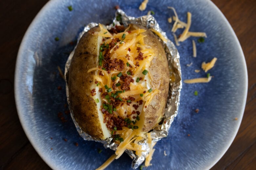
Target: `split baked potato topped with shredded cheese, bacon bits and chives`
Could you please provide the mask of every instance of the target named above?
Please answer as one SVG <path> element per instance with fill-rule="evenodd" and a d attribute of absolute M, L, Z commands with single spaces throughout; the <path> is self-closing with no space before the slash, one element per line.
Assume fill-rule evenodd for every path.
<path fill-rule="evenodd" d="M 74 118 L 94 139 L 120 144 L 129 136 L 125 130 L 143 135 L 163 118 L 167 57 L 159 38 L 141 25 L 91 28 L 77 44 L 68 77 Z"/>

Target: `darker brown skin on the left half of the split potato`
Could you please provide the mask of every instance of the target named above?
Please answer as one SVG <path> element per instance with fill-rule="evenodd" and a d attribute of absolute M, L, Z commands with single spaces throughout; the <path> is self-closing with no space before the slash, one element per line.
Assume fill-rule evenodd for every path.
<path fill-rule="evenodd" d="M 68 87 L 70 107 L 76 122 L 92 137 L 104 139 L 96 102 L 90 90 L 95 85 L 95 73 L 87 73 L 90 68 L 98 65 L 98 36 L 92 35 L 96 31 L 100 31 L 98 26 L 90 29 L 80 39 L 70 64 Z"/>

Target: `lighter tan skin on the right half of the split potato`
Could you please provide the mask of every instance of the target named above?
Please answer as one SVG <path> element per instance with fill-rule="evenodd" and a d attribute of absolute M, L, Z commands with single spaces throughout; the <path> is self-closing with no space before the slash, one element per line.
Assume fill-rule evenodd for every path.
<path fill-rule="evenodd" d="M 146 29 L 141 25 L 136 25 L 139 28 Z M 131 26 L 133 27 L 133 26 Z M 142 34 L 147 35 L 144 38 L 144 43 L 151 46 L 157 56 L 151 61 L 149 72 L 152 75 L 152 89 L 159 89 L 161 93 L 155 95 L 150 105 L 144 109 L 144 125 L 142 131 L 149 131 L 154 128 L 164 115 L 164 109 L 167 102 L 170 72 L 165 54 L 164 47 L 156 35 L 147 29 Z"/>

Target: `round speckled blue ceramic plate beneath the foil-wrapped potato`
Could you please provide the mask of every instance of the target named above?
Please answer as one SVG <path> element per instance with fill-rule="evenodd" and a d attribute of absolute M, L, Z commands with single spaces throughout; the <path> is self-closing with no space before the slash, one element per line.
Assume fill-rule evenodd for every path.
<path fill-rule="evenodd" d="M 156 144 L 153 165 L 147 169 L 209 169 L 232 143 L 245 108 L 247 71 L 241 46 L 224 15 L 209 0 L 158 3 L 150 0 L 143 12 L 138 10 L 140 2 L 51 0 L 27 30 L 16 64 L 16 105 L 29 140 L 51 168 L 95 169 L 114 153 L 100 143 L 79 137 L 70 115 L 65 114 L 68 110 L 65 107 L 65 81 L 59 76 L 57 66 L 64 71 L 68 54 L 74 48 L 70 42 L 77 39 L 83 26 L 90 22 L 109 24 L 116 5 L 135 17 L 153 10 L 160 27 L 172 41 L 172 26 L 167 18 L 173 12 L 166 7 L 175 7 L 182 21 L 186 21 L 187 11 L 192 13 L 190 30 L 204 31 L 208 37 L 204 43 L 197 43 L 197 58 L 192 57 L 191 42 L 196 38 L 178 46 L 182 79 L 206 76 L 202 70 L 200 73 L 194 70 L 200 69 L 203 61 L 218 58 L 215 67 L 209 71 L 214 76 L 209 83 L 183 83 L 178 116 L 168 137 Z M 67 8 L 70 5 L 72 11 Z M 59 41 L 55 41 L 55 37 L 59 37 Z M 191 62 L 193 64 L 187 67 L 186 64 Z M 62 89 L 58 90 L 58 86 Z M 198 91 L 198 96 L 194 91 Z M 200 111 L 196 113 L 195 109 Z M 66 122 L 63 123 L 61 117 Z M 99 149 L 103 150 L 100 154 Z M 107 169 L 131 169 L 131 161 L 124 154 Z"/>

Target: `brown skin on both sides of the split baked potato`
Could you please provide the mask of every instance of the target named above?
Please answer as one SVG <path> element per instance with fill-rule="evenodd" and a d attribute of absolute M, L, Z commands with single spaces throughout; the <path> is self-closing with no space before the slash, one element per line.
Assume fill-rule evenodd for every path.
<path fill-rule="evenodd" d="M 131 25 L 131 30 L 137 28 L 147 29 L 141 25 Z M 69 71 L 69 97 L 70 107 L 73 110 L 76 122 L 83 131 L 94 138 L 104 139 L 101 129 L 96 102 L 91 96 L 90 87 L 95 85 L 94 72 L 87 73 L 90 68 L 97 67 L 98 36 L 93 32 L 100 31 L 94 27 L 83 35 L 75 50 Z M 161 93 L 155 95 L 152 102 L 144 109 L 144 125 L 142 131 L 154 128 L 164 115 L 164 109 L 169 89 L 169 68 L 165 50 L 159 39 L 149 29 L 142 34 L 145 44 L 151 46 L 157 56 L 151 61 L 149 72 L 152 75 L 152 89 L 159 89 Z M 90 81 L 91 80 L 91 81 Z"/>

